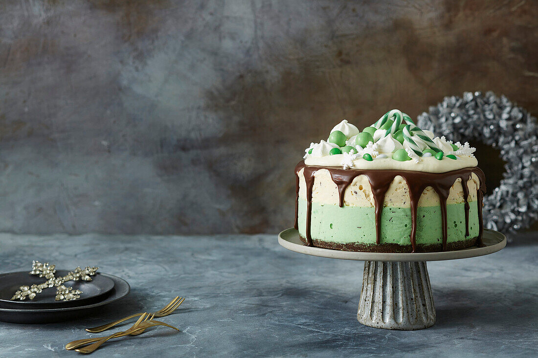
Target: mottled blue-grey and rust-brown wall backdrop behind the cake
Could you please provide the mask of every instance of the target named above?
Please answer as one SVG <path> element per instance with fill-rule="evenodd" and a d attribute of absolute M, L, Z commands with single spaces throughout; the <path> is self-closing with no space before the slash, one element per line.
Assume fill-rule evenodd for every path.
<path fill-rule="evenodd" d="M 538 113 L 531 1 L 0 3 L 0 230 L 277 232 L 343 118 Z"/>

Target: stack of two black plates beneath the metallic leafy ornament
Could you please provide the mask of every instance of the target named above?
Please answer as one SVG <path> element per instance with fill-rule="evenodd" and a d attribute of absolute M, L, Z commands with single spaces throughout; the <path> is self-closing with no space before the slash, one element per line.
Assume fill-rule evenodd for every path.
<path fill-rule="evenodd" d="M 56 270 L 56 276 L 68 271 Z M 129 295 L 131 288 L 122 278 L 97 273 L 92 281 L 68 281 L 65 286 L 82 291 L 79 299 L 56 301 L 56 289 L 48 288 L 34 299 L 11 300 L 22 285 L 40 284 L 45 279 L 28 271 L 0 275 L 0 320 L 12 323 L 50 323 L 76 319 L 95 307 L 115 302 Z"/>

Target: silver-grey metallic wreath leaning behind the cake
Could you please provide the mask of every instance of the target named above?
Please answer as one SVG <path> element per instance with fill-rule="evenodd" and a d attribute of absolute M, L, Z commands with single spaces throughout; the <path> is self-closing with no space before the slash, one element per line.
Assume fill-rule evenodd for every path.
<path fill-rule="evenodd" d="M 484 197 L 484 224 L 501 232 L 528 227 L 538 217 L 538 142 L 536 118 L 493 92 L 445 97 L 417 125 L 456 141 L 477 139 L 498 147 L 506 162 L 499 187 Z"/>

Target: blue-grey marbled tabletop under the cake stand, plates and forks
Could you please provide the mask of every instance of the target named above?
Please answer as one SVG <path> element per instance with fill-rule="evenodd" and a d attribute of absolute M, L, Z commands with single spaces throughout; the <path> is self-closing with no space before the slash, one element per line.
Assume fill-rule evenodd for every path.
<path fill-rule="evenodd" d="M 91 317 L 65 323 L 0 322 L 0 356 L 79 356 L 65 343 L 175 295 L 181 328 L 153 329 L 102 346 L 109 356 L 537 356 L 538 238 L 522 234 L 501 252 L 430 262 L 436 324 L 387 331 L 356 319 L 363 262 L 301 255 L 277 235 L 0 234 L 0 273 L 51 261 L 97 265 L 125 278 L 131 293 Z"/>

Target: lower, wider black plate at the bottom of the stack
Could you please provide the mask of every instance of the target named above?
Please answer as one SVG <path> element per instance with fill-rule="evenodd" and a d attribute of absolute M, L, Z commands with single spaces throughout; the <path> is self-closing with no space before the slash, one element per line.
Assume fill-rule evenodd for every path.
<path fill-rule="evenodd" d="M 0 321 L 11 323 L 51 323 L 77 319 L 91 313 L 91 311 L 93 311 L 96 307 L 116 302 L 117 300 L 129 295 L 131 288 L 129 287 L 129 283 L 127 283 L 125 280 L 109 274 L 101 273 L 100 275 L 108 277 L 114 282 L 114 288 L 101 302 L 78 307 L 66 307 L 58 309 L 28 310 L 0 307 Z"/>

